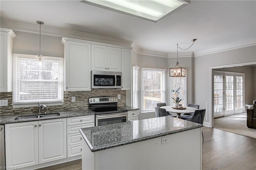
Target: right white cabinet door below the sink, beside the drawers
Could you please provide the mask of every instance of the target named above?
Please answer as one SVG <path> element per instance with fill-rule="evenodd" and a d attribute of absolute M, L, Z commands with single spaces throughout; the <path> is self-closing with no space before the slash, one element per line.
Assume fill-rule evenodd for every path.
<path fill-rule="evenodd" d="M 67 157 L 66 118 L 38 121 L 39 164 Z"/>

